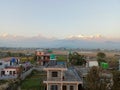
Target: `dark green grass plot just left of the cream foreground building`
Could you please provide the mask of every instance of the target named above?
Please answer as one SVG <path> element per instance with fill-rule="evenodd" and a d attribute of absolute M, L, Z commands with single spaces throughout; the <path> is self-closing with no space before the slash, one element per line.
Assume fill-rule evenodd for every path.
<path fill-rule="evenodd" d="M 44 75 L 43 75 L 44 74 Z M 33 71 L 21 84 L 21 90 L 44 90 L 43 80 L 46 73 L 41 71 Z"/>

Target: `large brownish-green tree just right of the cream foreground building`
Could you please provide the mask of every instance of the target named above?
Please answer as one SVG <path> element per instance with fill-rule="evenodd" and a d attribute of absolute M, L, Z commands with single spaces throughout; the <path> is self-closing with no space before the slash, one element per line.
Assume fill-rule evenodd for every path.
<path fill-rule="evenodd" d="M 101 70 L 99 67 L 93 66 L 86 78 L 87 90 L 108 90 L 107 79 L 102 79 L 100 76 Z"/>

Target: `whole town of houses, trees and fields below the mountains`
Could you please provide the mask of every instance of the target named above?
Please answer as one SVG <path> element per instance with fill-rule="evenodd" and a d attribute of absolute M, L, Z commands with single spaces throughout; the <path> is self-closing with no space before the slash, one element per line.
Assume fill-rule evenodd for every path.
<path fill-rule="evenodd" d="M 22 50 L 12 48 L 8 49 L 9 51 L 1 48 L 1 50 L 1 90 L 119 90 L 120 88 L 119 51 L 113 53 L 105 50 L 36 48 Z"/>

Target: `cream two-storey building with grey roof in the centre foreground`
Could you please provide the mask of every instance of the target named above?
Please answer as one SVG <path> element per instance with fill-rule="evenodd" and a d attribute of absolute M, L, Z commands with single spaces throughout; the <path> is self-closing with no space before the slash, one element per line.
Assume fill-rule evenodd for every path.
<path fill-rule="evenodd" d="M 74 68 L 51 60 L 43 70 L 47 72 L 47 79 L 43 81 L 47 90 L 81 90 L 82 81 Z"/>

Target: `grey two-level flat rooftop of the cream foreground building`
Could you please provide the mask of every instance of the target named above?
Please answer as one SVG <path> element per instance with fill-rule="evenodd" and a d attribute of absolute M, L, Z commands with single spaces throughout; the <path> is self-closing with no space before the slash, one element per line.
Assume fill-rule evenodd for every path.
<path fill-rule="evenodd" d="M 76 69 L 74 67 L 67 68 L 66 63 L 51 61 L 44 70 L 63 70 L 63 82 L 82 83 L 82 79 L 79 77 Z"/>

